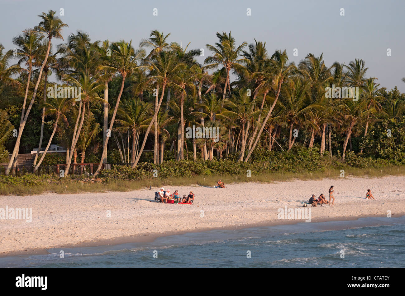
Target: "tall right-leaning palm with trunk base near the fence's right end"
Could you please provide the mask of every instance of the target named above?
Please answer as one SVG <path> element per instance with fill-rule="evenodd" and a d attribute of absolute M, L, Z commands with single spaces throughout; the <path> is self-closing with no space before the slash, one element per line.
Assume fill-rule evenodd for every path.
<path fill-rule="evenodd" d="M 115 115 L 117 114 L 119 100 L 121 99 L 122 92 L 124 90 L 125 79 L 127 77 L 129 77 L 135 69 L 139 69 L 139 68 L 143 67 L 143 66 L 139 66 L 139 62 L 141 61 L 141 59 L 143 59 L 145 57 L 144 50 L 142 50 L 142 49 L 134 50 L 134 48 L 132 47 L 132 40 L 129 43 L 125 42 L 124 40 L 114 42 L 111 45 L 111 51 L 113 52 L 111 57 L 114 60 L 114 67 L 103 66 L 103 67 L 100 67 L 100 69 L 115 70 L 116 72 L 118 72 L 121 75 L 122 83 L 121 83 L 121 88 L 119 90 L 117 103 L 115 103 L 114 112 L 111 117 L 109 130 L 113 130 L 113 124 L 115 121 Z M 107 149 L 108 139 L 109 139 L 109 137 L 107 137 L 107 139 L 103 145 L 103 152 L 101 155 L 100 164 L 98 165 L 98 168 L 97 168 L 96 172 L 94 173 L 94 177 L 96 177 L 100 173 L 100 170 L 101 170 L 101 167 L 103 164 L 103 160 L 104 160 L 104 154 L 105 154 L 104 151 L 106 151 L 106 149 Z"/>

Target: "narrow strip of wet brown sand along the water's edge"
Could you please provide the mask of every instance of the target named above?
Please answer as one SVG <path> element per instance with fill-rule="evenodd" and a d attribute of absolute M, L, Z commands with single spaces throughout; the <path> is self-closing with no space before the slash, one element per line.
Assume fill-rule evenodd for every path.
<path fill-rule="evenodd" d="M 328 217 L 323 217 L 323 218 L 315 218 L 313 219 L 314 223 L 322 223 L 322 222 L 332 222 L 332 221 L 356 221 L 360 218 L 380 218 L 382 215 L 365 215 L 365 216 L 343 216 L 339 218 L 328 218 Z M 392 218 L 399 218 L 401 216 L 405 216 L 405 212 L 399 213 L 399 214 L 392 214 Z M 298 223 L 303 223 L 305 222 L 305 219 L 280 219 L 277 221 L 262 221 L 262 222 L 256 222 L 252 224 L 245 224 L 245 225 L 234 225 L 234 226 L 228 226 L 228 227 L 208 227 L 208 228 L 201 228 L 201 229 L 194 229 L 191 231 L 169 231 L 167 233 L 151 233 L 149 235 L 130 235 L 130 236 L 122 236 L 122 237 L 117 237 L 117 238 L 112 238 L 112 239 L 102 239 L 100 241 L 92 241 L 92 242 L 83 242 L 83 243 L 78 243 L 78 244 L 67 244 L 67 245 L 60 245 L 60 246 L 54 246 L 51 248 L 46 248 L 46 249 L 33 249 L 29 251 L 17 251 L 17 252 L 10 252 L 7 254 L 0 254 L 0 258 L 7 258 L 7 257 L 13 257 L 13 256 L 30 256 L 30 255 L 47 255 L 47 254 L 52 254 L 48 252 L 47 250 L 49 249 L 57 249 L 57 248 L 67 248 L 67 249 L 72 249 L 72 248 L 87 248 L 87 247 L 100 247 L 100 246 L 118 246 L 121 244 L 130 244 L 130 243 L 144 243 L 144 242 L 153 242 L 159 237 L 166 237 L 166 236 L 171 236 L 171 235 L 181 235 L 185 233 L 199 233 L 199 232 L 205 232 L 205 231 L 212 231 L 212 230 L 239 230 L 239 229 L 248 229 L 248 228 L 254 228 L 254 227 L 269 227 L 269 226 L 278 226 L 278 225 L 294 225 Z"/>

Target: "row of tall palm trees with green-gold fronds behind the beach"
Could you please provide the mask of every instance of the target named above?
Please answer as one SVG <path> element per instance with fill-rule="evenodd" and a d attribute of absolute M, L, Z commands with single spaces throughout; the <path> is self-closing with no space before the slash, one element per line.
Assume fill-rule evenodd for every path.
<path fill-rule="evenodd" d="M 367 78 L 368 68 L 361 59 L 348 65 L 335 62 L 328 67 L 322 54 L 318 57 L 308 54 L 295 65 L 289 61 L 286 50 L 269 54 L 264 42 L 254 40 L 252 44 L 238 45 L 230 32 L 222 32 L 217 33 L 214 45 L 207 44 L 212 54 L 201 65 L 196 60 L 199 49 L 189 49 L 189 44 L 183 48 L 177 42 L 168 43 L 170 34 L 156 30 L 141 40 L 138 49 L 132 41 L 92 42 L 88 34 L 77 31 L 53 52 L 52 40 L 63 40 L 62 29 L 67 25 L 52 10 L 39 17 L 41 21 L 36 27 L 13 38 L 16 51 L 6 52 L 0 45 L 0 93 L 6 85 L 26 81 L 18 136 L 8 168 L 17 164 L 21 134 L 41 81 L 44 97 L 34 165 L 38 168 L 43 162 L 56 134 L 67 147 L 65 174 L 72 161 L 77 161 L 78 151 L 84 162 L 87 147 L 97 142 L 101 128 L 94 108 L 102 108 L 103 113 L 102 153 L 94 176 L 107 161 L 111 137 L 123 162 L 128 160 L 132 167 L 139 163 L 149 133 L 154 136 L 155 164 L 164 161 L 164 151 L 169 147 L 171 151 L 174 149 L 177 160 L 183 160 L 185 150 L 188 155 L 188 144 L 193 147 L 195 160 L 200 153 L 203 159 L 212 160 L 214 151 L 217 158 L 226 151 L 227 155 L 236 154 L 237 161 L 248 162 L 258 146 L 271 150 L 278 145 L 283 149 L 277 139 L 284 131 L 288 137 L 286 150 L 292 149 L 301 134 L 309 135 L 308 148 L 312 149 L 319 135 L 321 154 L 326 147 L 332 153 L 331 134 L 339 132 L 344 137 L 344 158 L 353 133 L 364 130 L 367 136 L 369 126 L 376 120 L 383 117 L 400 120 L 404 110 L 402 101 L 388 104 L 395 110 L 382 107 L 384 88 L 379 87 L 377 78 Z M 18 59 L 15 64 L 11 62 L 13 57 Z M 236 77 L 232 82 L 231 73 Z M 80 88 L 80 101 L 47 97 L 47 79 L 52 74 L 64 86 Z M 13 78 L 16 75 L 19 79 Z M 111 106 L 109 87 L 113 80 L 120 83 L 117 97 L 113 98 L 115 105 Z M 28 98 L 30 83 L 35 86 Z M 358 101 L 354 96 L 326 96 L 326 88 L 332 85 L 358 87 Z M 121 102 L 123 94 L 127 99 Z M 45 153 L 37 162 L 47 116 L 54 119 L 53 130 Z M 218 141 L 188 141 L 185 128 L 193 125 L 219 128 Z M 8 131 L 1 139 L 8 141 L 10 124 L 5 130 Z M 126 145 L 123 136 L 127 138 Z"/>

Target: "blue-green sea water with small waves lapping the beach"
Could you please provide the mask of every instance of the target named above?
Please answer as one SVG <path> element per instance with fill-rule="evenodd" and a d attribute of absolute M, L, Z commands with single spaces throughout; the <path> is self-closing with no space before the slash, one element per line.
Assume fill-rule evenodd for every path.
<path fill-rule="evenodd" d="M 0 258 L 0 267 L 405 267 L 405 216 L 213 230 L 63 250 L 64 258 L 60 249 Z"/>

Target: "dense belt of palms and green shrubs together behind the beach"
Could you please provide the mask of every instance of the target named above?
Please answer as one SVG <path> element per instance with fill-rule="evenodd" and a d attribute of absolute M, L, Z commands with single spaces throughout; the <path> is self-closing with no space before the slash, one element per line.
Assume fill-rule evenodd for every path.
<path fill-rule="evenodd" d="M 97 176 L 102 163 L 125 164 L 101 171 L 125 180 L 154 169 L 167 178 L 405 164 L 405 95 L 367 77 L 362 59 L 326 65 L 309 53 L 295 65 L 286 50 L 222 32 L 201 65 L 199 49 L 156 30 L 137 49 L 83 31 L 55 45 L 67 25 L 51 10 L 39 17 L 13 38 L 16 49 L 0 44 L 0 157 L 10 151 L 9 168 L 18 153 L 50 144 L 66 157 L 38 153 L 35 166 L 99 163 Z M 79 88 L 80 99 L 53 93 L 55 84 Z M 193 126 L 219 134 L 190 138 Z"/>

